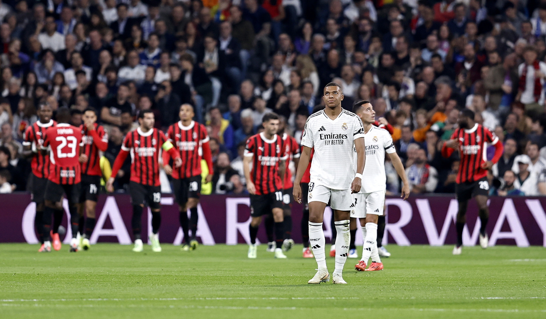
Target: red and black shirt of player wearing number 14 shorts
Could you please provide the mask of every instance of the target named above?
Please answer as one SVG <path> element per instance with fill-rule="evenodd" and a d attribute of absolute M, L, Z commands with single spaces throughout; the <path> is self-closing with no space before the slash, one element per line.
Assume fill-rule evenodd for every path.
<path fill-rule="evenodd" d="M 83 134 L 83 154 L 87 155 L 87 162 L 81 163 L 81 174 L 102 176 L 100 172 L 100 156 L 108 148 L 108 134 L 102 125 L 94 123 L 94 129 L 89 131 L 85 125 L 80 126 Z"/>

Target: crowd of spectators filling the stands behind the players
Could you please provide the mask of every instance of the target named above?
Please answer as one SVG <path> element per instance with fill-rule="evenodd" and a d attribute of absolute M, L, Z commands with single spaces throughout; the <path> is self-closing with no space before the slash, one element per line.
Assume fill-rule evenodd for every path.
<path fill-rule="evenodd" d="M 139 112 L 165 130 L 192 104 L 211 192 L 245 192 L 262 116 L 300 141 L 335 81 L 343 108 L 369 100 L 391 126 L 413 193 L 454 191 L 458 157 L 440 150 L 469 108 L 505 144 L 491 194 L 546 194 L 545 0 L 3 0 L 0 22 L 0 192 L 26 189 L 20 141 L 39 103 L 76 126 L 97 109 L 110 162 Z"/>

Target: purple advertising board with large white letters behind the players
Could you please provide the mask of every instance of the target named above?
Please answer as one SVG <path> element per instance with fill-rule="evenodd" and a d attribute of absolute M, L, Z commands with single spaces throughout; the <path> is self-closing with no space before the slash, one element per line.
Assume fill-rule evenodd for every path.
<path fill-rule="evenodd" d="M 179 227 L 178 205 L 170 194 L 164 194 L 161 203 L 160 240 L 180 245 L 183 233 Z M 69 218 L 66 200 L 63 204 L 66 217 L 62 225 L 66 227 Z M 453 196 L 412 196 L 406 201 L 390 197 L 385 204 L 387 226 L 383 244 L 440 246 L 455 243 L 454 223 L 458 204 Z M 249 205 L 248 197 L 202 196 L 198 206 L 199 241 L 205 245 L 248 243 Z M 546 247 L 545 206 L 546 197 L 491 197 L 487 227 L 489 244 Z M 292 238 L 296 243 L 301 243 L 301 211 L 301 205 L 292 205 Z M 34 216 L 35 204 L 31 202 L 29 194 L 0 194 L 0 243 L 38 243 Z M 131 216 L 132 206 L 127 194 L 101 195 L 97 205 L 97 226 L 91 242 L 132 243 Z M 144 234 L 150 231 L 150 219 L 148 210 L 147 214 L 143 214 Z M 330 219 L 331 210 L 327 208 L 324 220 Z M 464 245 L 477 244 L 479 226 L 477 206 L 472 200 L 468 205 L 467 226 L 463 232 Z M 70 234 L 67 227 L 65 242 Z M 324 234 L 328 241 L 332 234 L 329 222 L 324 223 Z M 263 227 L 260 227 L 258 239 L 266 242 Z M 361 232 L 357 232 L 356 243 L 362 243 Z"/>

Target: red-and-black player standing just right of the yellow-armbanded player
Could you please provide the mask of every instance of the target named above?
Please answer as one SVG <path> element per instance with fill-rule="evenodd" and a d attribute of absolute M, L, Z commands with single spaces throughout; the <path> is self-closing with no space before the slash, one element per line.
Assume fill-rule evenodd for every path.
<path fill-rule="evenodd" d="M 192 120 L 194 115 L 191 104 L 182 104 L 179 112 L 180 121 L 171 125 L 167 131 L 167 138 L 182 158 L 182 166 L 173 169 L 169 165 L 169 152 L 163 152 L 163 169 L 174 179 L 174 197 L 178 203 L 180 227 L 186 241 L 182 245 L 184 251 L 194 250 L 198 245 L 195 234 L 198 220 L 197 204 L 201 195 L 201 158 L 206 161 L 209 168 L 205 181 L 210 182 L 213 174 L 209 134 L 203 124 Z M 191 227 L 188 225 L 188 208 L 191 213 Z M 192 229 L 191 239 L 188 233 L 190 228 Z"/>

